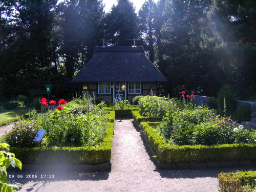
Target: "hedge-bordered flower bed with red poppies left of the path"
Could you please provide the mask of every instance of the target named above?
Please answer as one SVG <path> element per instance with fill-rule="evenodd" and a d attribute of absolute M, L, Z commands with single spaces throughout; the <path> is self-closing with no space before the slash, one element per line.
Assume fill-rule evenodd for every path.
<path fill-rule="evenodd" d="M 41 114 L 33 112 L 28 120 L 16 123 L 3 138 L 12 146 L 10 151 L 25 167 L 26 164 L 66 164 L 110 169 L 115 112 L 103 110 L 103 103 L 95 105 L 90 98 L 69 103 L 62 99 L 59 104 L 61 108 L 47 110 L 43 98 Z M 46 133 L 40 142 L 35 142 L 33 138 L 38 130 Z"/>

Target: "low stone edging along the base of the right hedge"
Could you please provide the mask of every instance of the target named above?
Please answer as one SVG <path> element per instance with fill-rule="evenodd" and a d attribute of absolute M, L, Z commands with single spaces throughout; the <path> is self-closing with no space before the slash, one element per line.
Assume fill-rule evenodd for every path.
<path fill-rule="evenodd" d="M 143 139 L 146 142 L 146 146 L 150 150 L 153 156 L 156 155 L 156 152 L 151 147 L 150 143 L 147 142 L 144 133 L 140 132 Z M 154 158 L 153 160 L 157 168 L 159 169 L 179 169 L 179 168 L 217 168 L 217 167 L 238 167 L 238 166 L 256 166 L 256 162 L 252 162 L 251 160 L 244 161 L 221 161 L 221 162 L 207 162 L 207 163 L 162 163 L 158 158 Z"/>

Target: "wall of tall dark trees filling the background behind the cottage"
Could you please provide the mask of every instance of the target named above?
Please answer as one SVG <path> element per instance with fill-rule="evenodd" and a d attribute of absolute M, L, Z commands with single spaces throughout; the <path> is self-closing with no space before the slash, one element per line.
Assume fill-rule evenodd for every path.
<path fill-rule="evenodd" d="M 216 97 L 234 84 L 240 98 L 255 97 L 255 1 L 147 0 L 138 13 L 129 0 L 108 13 L 103 7 L 101 0 L 0 1 L 2 95 L 33 98 L 52 84 L 53 95 L 71 98 L 70 80 L 101 39 L 131 46 L 135 37 L 169 80 L 161 93 Z"/>

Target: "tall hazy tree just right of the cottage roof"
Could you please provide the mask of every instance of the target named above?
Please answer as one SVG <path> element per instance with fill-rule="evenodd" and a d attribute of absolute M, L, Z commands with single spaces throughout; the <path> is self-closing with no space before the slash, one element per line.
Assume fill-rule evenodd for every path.
<path fill-rule="evenodd" d="M 167 1 L 162 26 L 162 62 L 168 78 L 169 93 L 177 96 L 181 90 L 201 90 L 207 87 L 205 63 L 200 55 L 200 34 L 206 25 L 209 1 Z"/>

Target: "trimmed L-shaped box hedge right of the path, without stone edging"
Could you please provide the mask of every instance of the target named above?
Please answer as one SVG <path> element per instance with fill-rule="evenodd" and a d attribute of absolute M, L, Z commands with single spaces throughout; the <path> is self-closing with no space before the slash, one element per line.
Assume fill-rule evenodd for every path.
<path fill-rule="evenodd" d="M 169 145 L 148 122 L 141 122 L 139 126 L 162 163 L 256 161 L 253 144 Z"/>

